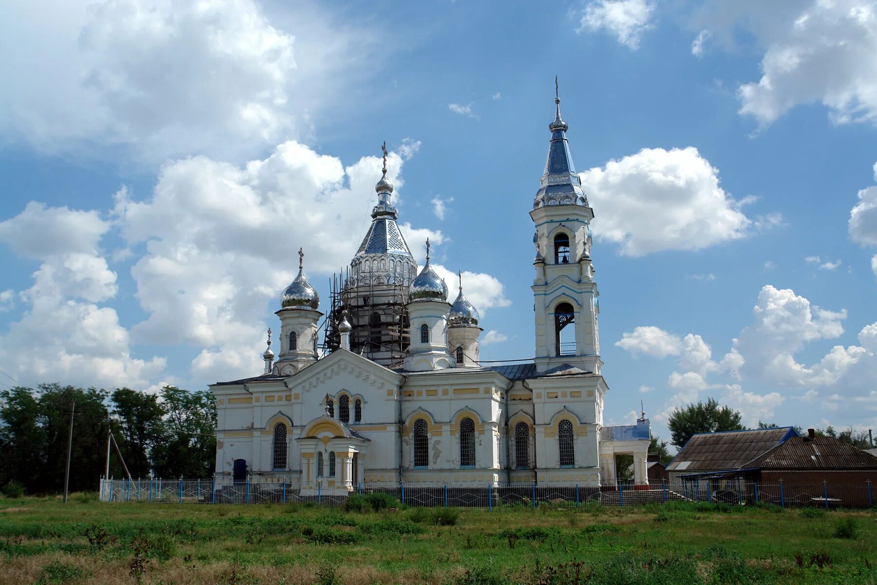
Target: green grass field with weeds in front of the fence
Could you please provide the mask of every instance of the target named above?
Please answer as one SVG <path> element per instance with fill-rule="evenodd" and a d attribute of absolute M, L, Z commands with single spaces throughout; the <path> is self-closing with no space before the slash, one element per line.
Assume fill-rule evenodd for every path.
<path fill-rule="evenodd" d="M 356 503 L 0 500 L 0 583 L 877 583 L 875 510 Z"/>

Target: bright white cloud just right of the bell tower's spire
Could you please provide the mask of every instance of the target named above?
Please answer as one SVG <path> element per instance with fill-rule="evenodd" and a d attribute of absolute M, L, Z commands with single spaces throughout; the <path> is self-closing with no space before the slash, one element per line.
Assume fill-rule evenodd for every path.
<path fill-rule="evenodd" d="M 743 238 L 752 224 L 718 184 L 718 171 L 697 149 L 644 148 L 581 174 L 597 238 L 641 256 L 699 250 Z"/>

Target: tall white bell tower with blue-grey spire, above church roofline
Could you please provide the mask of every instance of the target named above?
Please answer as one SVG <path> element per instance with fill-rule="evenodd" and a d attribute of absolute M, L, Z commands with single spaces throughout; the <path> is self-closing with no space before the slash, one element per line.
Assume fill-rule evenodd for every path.
<path fill-rule="evenodd" d="M 594 210 L 581 190 L 569 153 L 567 123 L 560 118 L 560 96 L 554 79 L 554 120 L 545 173 L 533 200 L 530 217 L 536 225 L 533 242 L 536 368 L 561 364 L 600 373 L 597 327 L 597 285 L 591 263 L 590 222 Z"/>

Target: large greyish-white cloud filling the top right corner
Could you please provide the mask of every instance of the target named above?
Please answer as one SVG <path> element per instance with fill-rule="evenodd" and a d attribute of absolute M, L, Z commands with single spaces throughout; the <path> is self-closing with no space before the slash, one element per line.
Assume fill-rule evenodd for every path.
<path fill-rule="evenodd" d="M 877 122 L 877 10 L 872 0 L 709 2 L 698 25 L 725 45 L 743 31 L 764 50 L 761 77 L 738 89 L 740 113 L 769 125 L 822 103 L 837 124 Z"/>

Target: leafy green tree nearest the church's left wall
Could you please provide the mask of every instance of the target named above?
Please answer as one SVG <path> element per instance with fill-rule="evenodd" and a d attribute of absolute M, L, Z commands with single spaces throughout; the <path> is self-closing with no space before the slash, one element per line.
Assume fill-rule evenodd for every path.
<path fill-rule="evenodd" d="M 159 477 L 207 477 L 216 463 L 217 407 L 208 390 L 161 389 L 167 413 L 160 443 L 150 460 Z"/>

